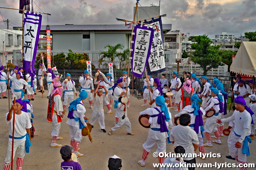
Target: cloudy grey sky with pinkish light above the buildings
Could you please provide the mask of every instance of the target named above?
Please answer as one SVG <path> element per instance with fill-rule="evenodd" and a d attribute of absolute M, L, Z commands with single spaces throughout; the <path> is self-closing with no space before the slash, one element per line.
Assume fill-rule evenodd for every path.
<path fill-rule="evenodd" d="M 0 0 L 1 7 L 19 8 L 18 0 Z M 49 16 L 49 25 L 64 24 L 123 24 L 116 18 L 132 20 L 136 0 L 35 0 Z M 159 5 L 159 0 L 140 0 L 141 6 Z M 41 10 L 33 4 L 34 11 Z M 22 15 L 15 10 L 1 9 L 0 20 L 9 19 L 11 28 L 21 26 Z M 149 13 L 150 14 L 150 13 Z M 160 14 L 167 14 L 163 24 L 172 30 L 191 35 L 227 32 L 236 37 L 256 31 L 256 0 L 161 0 Z M 149 15 L 150 16 L 150 15 Z M 47 24 L 43 15 L 42 25 Z M 0 28 L 6 28 L 0 23 Z"/>

